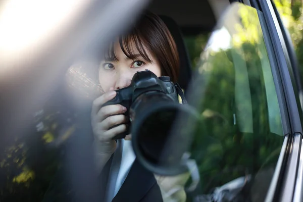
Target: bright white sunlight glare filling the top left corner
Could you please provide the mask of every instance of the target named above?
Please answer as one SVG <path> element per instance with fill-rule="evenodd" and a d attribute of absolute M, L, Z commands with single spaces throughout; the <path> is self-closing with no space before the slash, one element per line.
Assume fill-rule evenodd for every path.
<path fill-rule="evenodd" d="M 54 40 L 50 39 L 69 27 L 70 21 L 86 5 L 85 0 L 6 1 L 0 14 L 2 63 L 15 63 L 16 55 L 18 60 L 31 57 L 38 51 L 37 47 L 46 47 L 48 43 L 52 43 Z M 7 65 L 3 65 L 1 69 L 5 67 Z"/>

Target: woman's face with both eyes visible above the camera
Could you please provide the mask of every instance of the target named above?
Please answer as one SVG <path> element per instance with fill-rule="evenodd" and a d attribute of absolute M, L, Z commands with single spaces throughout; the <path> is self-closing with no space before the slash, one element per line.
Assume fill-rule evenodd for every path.
<path fill-rule="evenodd" d="M 157 60 L 145 48 L 151 62 L 143 59 L 139 52 L 135 52 L 134 60 L 129 59 L 122 52 L 118 42 L 115 43 L 115 54 L 118 61 L 102 61 L 99 66 L 99 82 L 105 92 L 111 88 L 114 90 L 130 85 L 131 79 L 137 71 L 145 69 L 154 72 L 158 77 L 161 76 L 161 68 Z"/>

